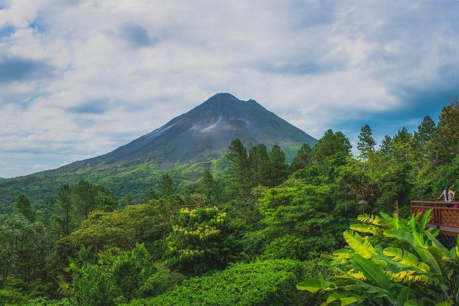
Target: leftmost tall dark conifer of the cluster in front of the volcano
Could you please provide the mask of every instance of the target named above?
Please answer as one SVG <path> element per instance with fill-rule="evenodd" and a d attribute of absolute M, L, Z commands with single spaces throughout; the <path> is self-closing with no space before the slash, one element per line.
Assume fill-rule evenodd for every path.
<path fill-rule="evenodd" d="M 227 177 L 231 193 L 239 198 L 248 198 L 253 182 L 247 151 L 240 139 L 231 141 L 226 157 L 229 160 Z"/>

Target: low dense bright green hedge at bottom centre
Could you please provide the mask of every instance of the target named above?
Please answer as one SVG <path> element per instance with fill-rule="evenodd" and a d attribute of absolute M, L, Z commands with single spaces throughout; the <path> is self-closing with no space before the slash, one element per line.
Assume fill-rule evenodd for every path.
<path fill-rule="evenodd" d="M 305 292 L 290 287 L 304 273 L 304 264 L 290 259 L 237 263 L 211 276 L 189 279 L 156 298 L 128 305 L 311 305 L 305 304 Z"/>

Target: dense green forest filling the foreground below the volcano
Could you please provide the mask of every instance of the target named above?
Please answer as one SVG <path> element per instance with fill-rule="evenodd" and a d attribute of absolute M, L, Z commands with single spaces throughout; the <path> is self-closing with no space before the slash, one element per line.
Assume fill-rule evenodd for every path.
<path fill-rule="evenodd" d="M 299 289 L 339 283 L 335 262 L 351 274 L 368 267 L 361 257 L 382 260 L 382 250 L 368 246 L 386 247 L 376 228 L 371 238 L 343 235 L 357 215 L 386 213 L 389 220 L 398 207 L 400 217 L 409 217 L 410 200 L 437 198 L 445 185 L 459 187 L 459 102 L 443 108 L 438 123 L 425 117 L 416 130 L 400 127 L 382 143 L 366 125 L 359 139 L 360 155 L 354 156 L 342 132 L 327 130 L 290 164 L 278 145 L 246 148 L 234 139 L 225 157 L 211 171 L 202 169 L 194 183 L 183 183 L 176 172 L 158 174 L 154 166 L 132 169 L 139 182 L 156 185 L 121 198 L 110 191 L 123 184 L 121 178 L 95 184 L 84 172 L 78 182 L 62 180 L 40 210 L 19 190 L 8 203 L 13 211 L 0 215 L 0 305 L 388 305 L 380 292 L 401 292 L 397 301 L 403 294 L 408 301 L 410 288 L 423 292 L 431 281 L 448 292 L 457 286 L 447 275 L 456 273 L 458 251 L 448 252 L 451 275 L 443 266 L 434 270 L 435 257 L 427 258 L 419 243 L 425 237 L 425 249 L 434 252 L 434 234 L 424 228 L 412 234 L 417 240 L 410 245 L 429 259 L 431 280 L 407 277 L 413 285 L 401 290 L 373 271 L 370 276 L 379 277 L 355 276 L 364 293 L 351 299 L 346 292 L 327 300 L 327 294 L 296 289 L 298 283 Z M 398 223 L 398 215 L 390 220 L 395 229 L 408 226 Z M 324 257 L 333 265 L 319 265 Z M 386 270 L 405 263 L 384 258 Z M 443 298 L 427 297 L 434 303 Z"/>

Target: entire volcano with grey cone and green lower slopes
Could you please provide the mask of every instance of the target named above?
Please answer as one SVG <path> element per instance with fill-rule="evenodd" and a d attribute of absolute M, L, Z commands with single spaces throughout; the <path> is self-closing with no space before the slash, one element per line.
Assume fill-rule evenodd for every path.
<path fill-rule="evenodd" d="M 245 145 L 279 145 L 291 162 L 303 143 L 317 140 L 292 126 L 255 100 L 242 101 L 229 93 L 218 93 L 161 128 L 134 139 L 107 154 L 75 161 L 0 183 L 0 212 L 11 210 L 17 193 L 26 193 L 34 207 L 46 211 L 59 186 L 82 178 L 106 186 L 117 198 L 141 202 L 159 178 L 169 174 L 189 187 L 203 169 L 220 176 L 222 158 L 233 139 Z M 165 171 L 167 170 L 167 171 Z M 3 209 L 2 209 L 3 207 Z M 46 212 L 45 212 L 46 213 Z"/>

